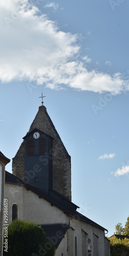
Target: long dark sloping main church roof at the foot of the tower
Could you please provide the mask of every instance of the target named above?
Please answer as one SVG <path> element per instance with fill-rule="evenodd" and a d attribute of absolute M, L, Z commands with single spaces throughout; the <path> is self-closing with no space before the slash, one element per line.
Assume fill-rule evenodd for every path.
<path fill-rule="evenodd" d="M 32 185 L 30 185 L 29 183 L 26 183 L 25 181 L 19 179 L 18 177 L 14 176 L 13 174 L 10 174 L 6 171 L 6 183 L 11 183 L 11 184 L 17 184 L 17 185 L 24 185 L 27 190 L 31 190 L 33 191 L 36 195 L 38 195 L 39 198 L 44 198 L 46 201 L 51 203 L 51 206 L 56 206 L 57 208 L 59 208 L 60 210 L 63 211 L 64 214 L 67 214 L 71 217 L 74 217 L 78 220 L 84 221 L 86 223 L 89 223 L 93 226 L 96 226 L 100 229 L 106 230 L 104 227 L 98 225 L 97 223 L 95 223 L 94 221 L 90 220 L 89 218 L 85 217 L 84 215 L 80 214 L 80 212 L 75 210 L 75 204 L 73 204 L 72 202 L 69 203 L 71 204 L 71 207 L 68 206 L 68 204 L 64 204 L 63 201 L 61 200 L 57 200 L 54 197 L 50 197 L 49 195 L 46 195 L 45 193 L 43 193 L 42 191 L 40 191 L 39 189 L 37 189 L 36 187 L 33 187 Z M 54 190 L 53 190 L 54 193 Z M 55 193 L 56 194 L 56 193 Z"/>

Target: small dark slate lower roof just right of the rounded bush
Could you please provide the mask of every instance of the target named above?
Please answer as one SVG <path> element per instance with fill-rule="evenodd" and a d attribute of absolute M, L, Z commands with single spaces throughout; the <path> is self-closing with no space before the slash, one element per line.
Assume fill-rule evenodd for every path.
<path fill-rule="evenodd" d="M 54 244 L 55 248 L 58 247 L 69 228 L 69 225 L 65 224 L 48 224 L 40 226 L 45 231 L 46 238 Z"/>

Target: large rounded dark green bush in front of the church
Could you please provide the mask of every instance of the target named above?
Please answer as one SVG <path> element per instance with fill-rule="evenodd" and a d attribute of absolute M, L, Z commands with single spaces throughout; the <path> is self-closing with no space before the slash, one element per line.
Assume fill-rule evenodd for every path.
<path fill-rule="evenodd" d="M 5 240 L 4 236 L 4 242 Z M 44 251 L 44 254 L 39 253 Z M 3 249 L 4 256 L 31 256 L 55 254 L 54 245 L 46 240 L 45 232 L 35 223 L 14 220 L 8 226 L 8 252 Z"/>

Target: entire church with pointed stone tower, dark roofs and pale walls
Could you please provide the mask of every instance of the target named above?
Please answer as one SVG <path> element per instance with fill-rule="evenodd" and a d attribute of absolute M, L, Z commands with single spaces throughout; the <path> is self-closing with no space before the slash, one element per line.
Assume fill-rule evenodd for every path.
<path fill-rule="evenodd" d="M 12 174 L 5 172 L 5 198 L 8 223 L 36 222 L 54 243 L 55 256 L 110 256 L 107 229 L 71 201 L 71 157 L 43 104 L 13 158 Z M 46 251 L 39 247 L 38 255 Z"/>

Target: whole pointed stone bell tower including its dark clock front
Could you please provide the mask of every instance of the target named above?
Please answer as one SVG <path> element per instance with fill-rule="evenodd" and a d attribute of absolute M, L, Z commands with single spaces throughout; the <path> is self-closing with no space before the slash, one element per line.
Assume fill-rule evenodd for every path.
<path fill-rule="evenodd" d="M 13 158 L 13 174 L 47 195 L 54 190 L 71 201 L 71 157 L 43 104 L 23 139 Z"/>

